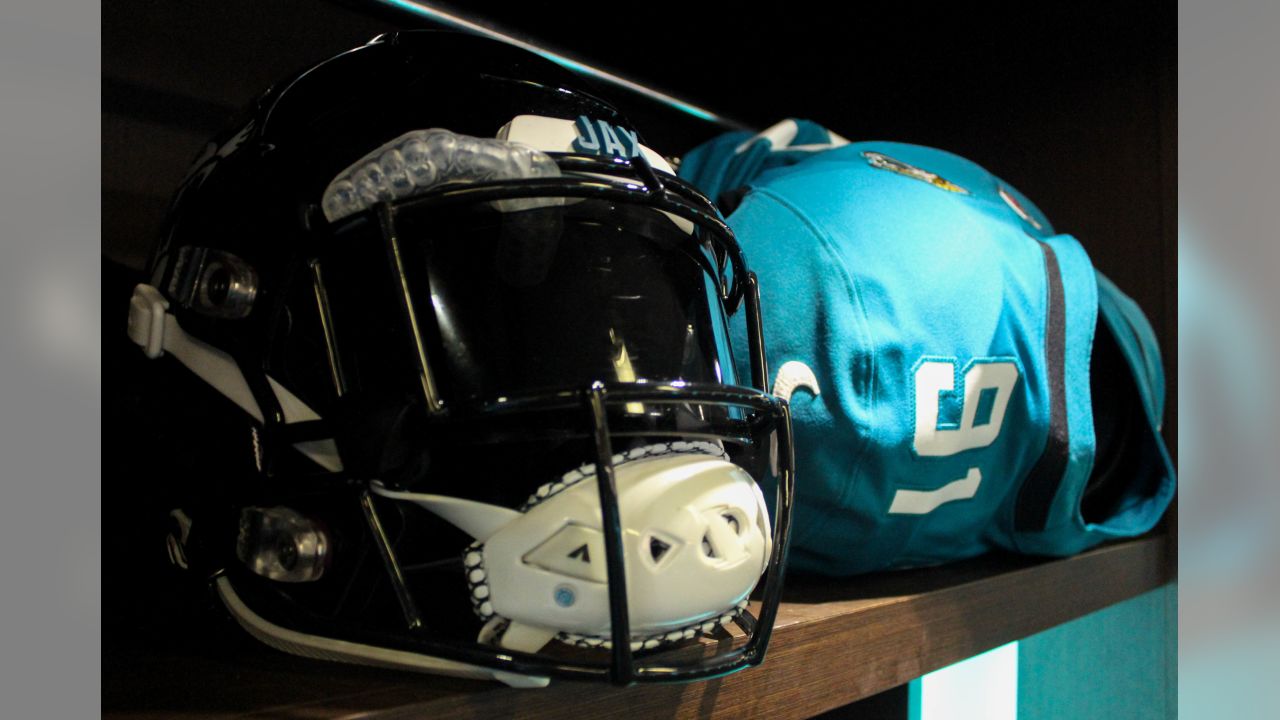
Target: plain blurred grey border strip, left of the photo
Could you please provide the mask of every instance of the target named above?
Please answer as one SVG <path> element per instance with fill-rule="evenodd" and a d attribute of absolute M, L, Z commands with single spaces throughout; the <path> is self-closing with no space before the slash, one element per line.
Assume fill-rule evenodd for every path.
<path fill-rule="evenodd" d="M 101 10 L 0 18 L 0 715 L 100 714 Z"/>

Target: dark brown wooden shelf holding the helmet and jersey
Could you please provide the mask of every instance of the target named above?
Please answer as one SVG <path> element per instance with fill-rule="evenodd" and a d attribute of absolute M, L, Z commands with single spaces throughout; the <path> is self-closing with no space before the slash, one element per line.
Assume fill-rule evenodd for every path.
<path fill-rule="evenodd" d="M 847 580 L 791 578 L 760 667 L 705 683 L 497 683 L 310 661 L 257 644 L 104 646 L 105 717 L 809 717 L 1172 579 L 1166 534 L 1075 557 L 993 556 Z M 172 646 L 172 647 L 170 647 Z"/>

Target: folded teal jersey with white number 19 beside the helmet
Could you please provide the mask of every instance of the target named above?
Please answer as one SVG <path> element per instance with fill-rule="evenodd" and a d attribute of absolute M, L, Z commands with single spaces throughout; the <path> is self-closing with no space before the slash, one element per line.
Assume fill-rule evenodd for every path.
<path fill-rule="evenodd" d="M 788 123 L 713 140 L 680 172 L 733 205 L 759 275 L 773 387 L 795 427 L 790 568 L 1069 555 L 1151 529 L 1174 470 L 1157 432 L 1164 370 L 1138 306 L 974 163 Z M 1123 377 L 1091 378 L 1098 333 Z M 741 323 L 732 342 L 746 347 Z M 1100 379 L 1128 388 L 1140 421 L 1119 491 L 1112 479 L 1084 510 Z"/>

